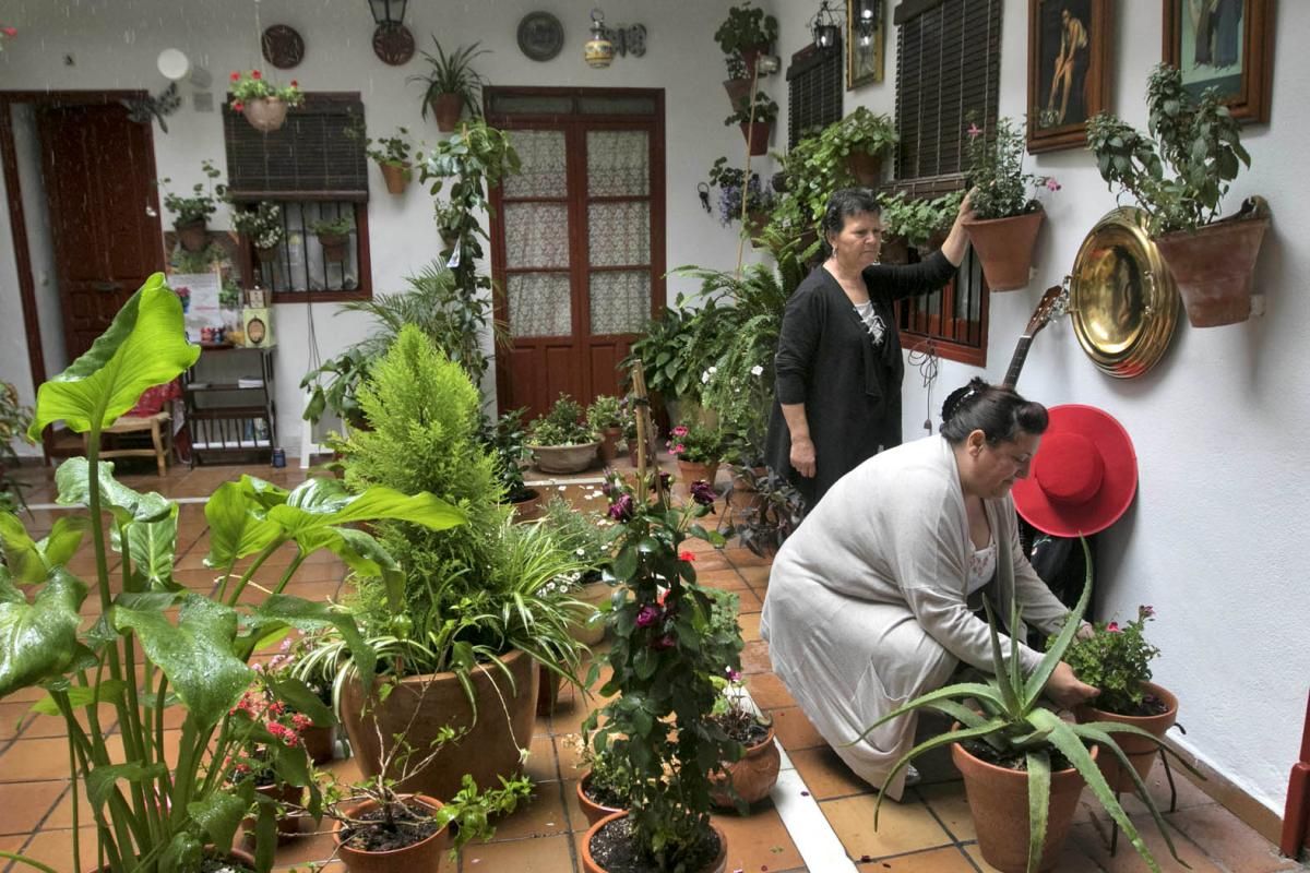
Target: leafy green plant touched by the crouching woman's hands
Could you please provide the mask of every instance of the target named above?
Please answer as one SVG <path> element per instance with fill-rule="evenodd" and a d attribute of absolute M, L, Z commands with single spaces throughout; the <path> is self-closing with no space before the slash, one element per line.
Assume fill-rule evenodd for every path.
<path fill-rule="evenodd" d="M 1096 622 L 1095 633 L 1086 640 L 1074 640 L 1065 653 L 1065 661 L 1079 679 L 1100 688 L 1096 708 L 1125 716 L 1140 715 L 1138 707 L 1150 682 L 1150 662 L 1159 649 L 1142 637 L 1144 626 L 1155 615 L 1150 606 L 1137 607 L 1137 619 L 1120 626 L 1117 622 Z"/>

